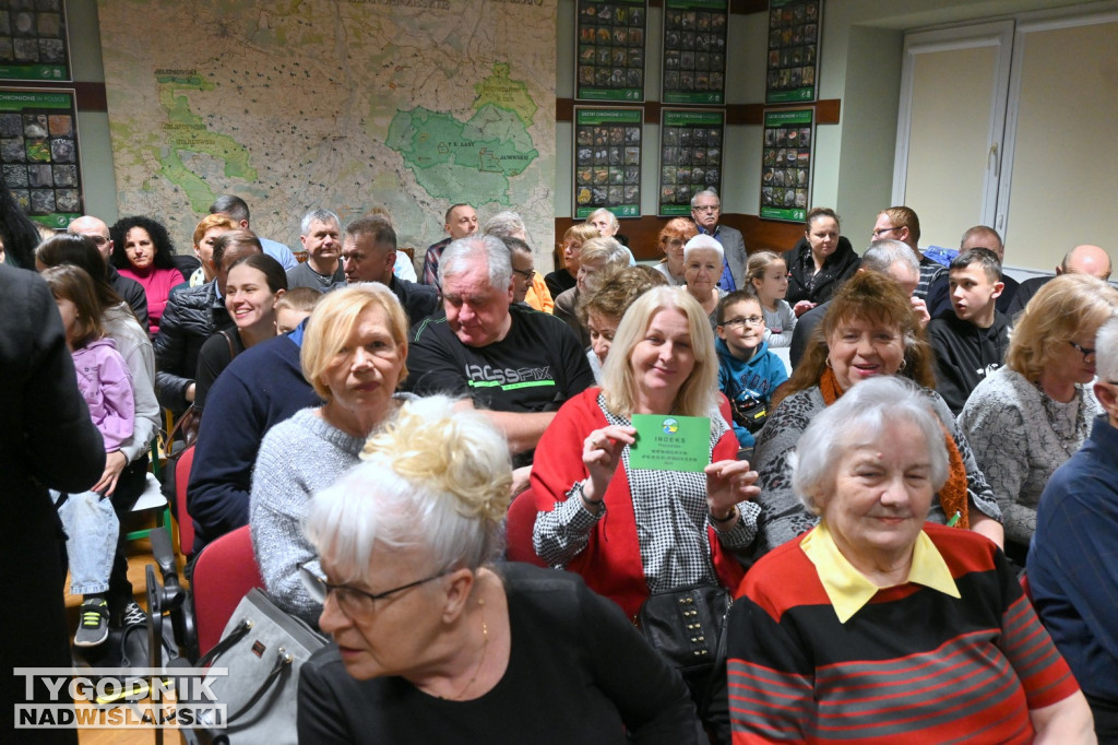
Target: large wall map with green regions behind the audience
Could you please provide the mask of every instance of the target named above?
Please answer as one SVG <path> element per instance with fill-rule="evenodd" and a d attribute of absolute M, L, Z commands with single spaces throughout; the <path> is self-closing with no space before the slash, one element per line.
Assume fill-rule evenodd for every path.
<path fill-rule="evenodd" d="M 556 0 L 97 4 L 119 210 L 180 251 L 225 192 L 293 248 L 379 206 L 421 252 L 455 201 L 553 244 Z"/>

